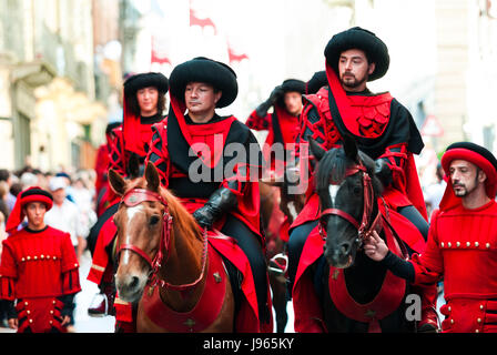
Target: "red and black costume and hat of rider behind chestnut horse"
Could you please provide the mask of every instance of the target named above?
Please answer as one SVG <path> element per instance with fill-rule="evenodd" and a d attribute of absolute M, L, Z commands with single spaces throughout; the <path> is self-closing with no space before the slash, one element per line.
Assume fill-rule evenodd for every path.
<path fill-rule="evenodd" d="M 142 88 L 154 87 L 159 91 L 158 113 L 152 116 L 140 115 L 136 92 Z M 149 152 L 149 144 L 152 138 L 152 125 L 162 121 L 164 95 L 169 90 L 169 81 L 161 73 L 150 72 L 140 73 L 130 77 L 124 82 L 124 108 L 123 122 L 118 128 L 111 130 L 109 139 L 109 169 L 113 169 L 125 178 L 138 178 L 143 169 L 143 163 Z M 162 101 L 161 101 L 162 100 Z M 134 159 L 136 163 L 130 164 Z M 114 274 L 111 261 L 112 242 L 115 236 L 115 225 L 112 216 L 118 211 L 120 197 L 106 189 L 101 197 L 104 206 L 101 209 L 101 215 L 98 222 L 90 231 L 90 239 L 97 239 L 92 266 L 88 280 L 97 283 L 104 292 L 112 306 Z M 97 235 L 97 237 L 94 237 Z M 100 314 L 102 305 L 90 308 L 89 313 Z"/>

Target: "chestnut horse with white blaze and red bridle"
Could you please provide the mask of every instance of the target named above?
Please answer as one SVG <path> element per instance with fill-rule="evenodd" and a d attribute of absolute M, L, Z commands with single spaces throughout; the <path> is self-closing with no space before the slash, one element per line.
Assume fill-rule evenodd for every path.
<path fill-rule="evenodd" d="M 118 226 L 115 285 L 119 297 L 125 302 L 139 302 L 138 332 L 182 332 L 178 331 L 182 325 L 175 324 L 178 317 L 200 307 L 211 312 L 212 307 L 211 304 L 201 304 L 210 283 L 206 281 L 207 271 L 212 267 L 210 261 L 215 260 L 207 253 L 206 231 L 202 232 L 181 202 L 160 185 L 158 171 L 152 163 L 146 165 L 144 176 L 138 180 L 125 181 L 110 170 L 109 181 L 122 196 L 114 215 Z M 223 303 L 212 322 L 199 332 L 229 333 L 234 329 L 234 297 L 230 277 L 224 268 L 221 270 L 214 276 L 216 281 L 217 277 L 224 278 L 224 290 L 217 291 L 213 297 L 222 297 Z M 151 318 L 153 312 L 146 311 L 150 306 L 144 300 L 154 293 L 155 300 L 162 301 L 161 312 L 173 315 L 168 318 L 161 313 L 161 324 L 171 326 L 159 325 L 156 320 Z M 185 332 L 197 332 L 194 322 L 187 321 L 192 324 Z"/>

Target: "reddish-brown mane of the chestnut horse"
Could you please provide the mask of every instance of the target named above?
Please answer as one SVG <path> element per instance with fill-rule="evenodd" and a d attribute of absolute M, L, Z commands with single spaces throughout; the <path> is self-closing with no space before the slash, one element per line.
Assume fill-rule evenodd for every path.
<path fill-rule="evenodd" d="M 146 189 L 146 180 L 144 178 L 133 181 L 126 192 L 132 189 Z M 173 217 L 173 221 L 181 221 L 180 223 L 174 223 L 174 227 L 181 235 L 185 237 L 192 237 L 202 240 L 202 233 L 192 214 L 181 204 L 176 196 L 174 196 L 165 187 L 159 187 L 159 194 L 168 202 L 169 212 Z"/>

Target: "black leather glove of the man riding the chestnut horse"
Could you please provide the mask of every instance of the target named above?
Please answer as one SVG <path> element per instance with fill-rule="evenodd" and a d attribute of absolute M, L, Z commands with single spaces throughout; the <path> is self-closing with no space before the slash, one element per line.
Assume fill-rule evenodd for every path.
<path fill-rule="evenodd" d="M 210 229 L 223 213 L 236 206 L 236 195 L 226 187 L 221 187 L 211 195 L 209 201 L 193 212 L 193 217 L 202 227 Z"/>

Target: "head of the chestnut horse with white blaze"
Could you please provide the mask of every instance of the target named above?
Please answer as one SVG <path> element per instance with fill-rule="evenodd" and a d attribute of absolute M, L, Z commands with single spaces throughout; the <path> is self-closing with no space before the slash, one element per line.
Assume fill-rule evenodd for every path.
<path fill-rule="evenodd" d="M 133 302 L 141 297 L 152 268 L 160 262 L 161 243 L 169 237 L 168 203 L 162 197 L 159 173 L 152 163 L 146 165 L 144 176 L 132 181 L 110 170 L 109 182 L 122 197 L 114 214 L 119 257 L 115 285 L 120 298 Z"/>

